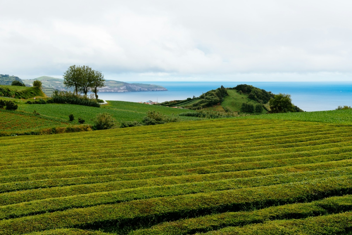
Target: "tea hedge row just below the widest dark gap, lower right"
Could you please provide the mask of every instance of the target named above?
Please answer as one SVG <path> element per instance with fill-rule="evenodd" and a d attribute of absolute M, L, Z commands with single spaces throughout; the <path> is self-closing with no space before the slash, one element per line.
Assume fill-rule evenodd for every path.
<path fill-rule="evenodd" d="M 332 208 L 333 206 L 333 208 Z M 187 235 L 206 233 L 228 226 L 264 223 L 272 220 L 307 218 L 352 210 L 352 195 L 329 197 L 311 203 L 295 203 L 253 211 L 225 212 L 197 218 L 165 222 L 129 235 Z M 217 233 L 217 232 L 215 232 Z"/>

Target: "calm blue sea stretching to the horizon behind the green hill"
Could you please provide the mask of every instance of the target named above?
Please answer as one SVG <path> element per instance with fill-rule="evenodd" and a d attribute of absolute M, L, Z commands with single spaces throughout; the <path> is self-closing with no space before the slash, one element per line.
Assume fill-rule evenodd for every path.
<path fill-rule="evenodd" d="M 131 102 L 184 100 L 208 90 L 249 84 L 274 94 L 290 94 L 292 102 L 304 111 L 333 110 L 352 106 L 352 82 L 143 82 L 162 85 L 168 91 L 100 92 L 99 99 Z"/>

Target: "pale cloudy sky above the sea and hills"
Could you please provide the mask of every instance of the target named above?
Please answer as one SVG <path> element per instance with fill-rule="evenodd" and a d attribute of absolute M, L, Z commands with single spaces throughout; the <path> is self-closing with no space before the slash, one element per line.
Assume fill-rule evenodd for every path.
<path fill-rule="evenodd" d="M 0 74 L 352 81 L 352 1 L 0 1 Z"/>

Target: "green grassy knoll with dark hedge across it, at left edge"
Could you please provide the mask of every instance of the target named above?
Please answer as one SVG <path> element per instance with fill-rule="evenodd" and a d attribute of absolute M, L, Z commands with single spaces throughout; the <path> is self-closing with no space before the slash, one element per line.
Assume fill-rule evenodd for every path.
<path fill-rule="evenodd" d="M 29 99 L 35 96 L 45 96 L 38 87 L 5 86 L 0 85 L 0 96 L 16 99 Z"/>

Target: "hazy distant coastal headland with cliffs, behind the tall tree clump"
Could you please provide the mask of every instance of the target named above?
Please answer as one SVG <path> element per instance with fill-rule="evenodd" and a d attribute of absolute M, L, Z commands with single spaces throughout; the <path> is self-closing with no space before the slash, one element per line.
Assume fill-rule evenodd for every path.
<path fill-rule="evenodd" d="M 33 80 L 22 80 L 26 85 L 32 85 L 34 80 L 42 82 L 43 87 L 50 87 L 60 91 L 73 91 L 73 88 L 66 88 L 63 84 L 63 79 L 48 76 L 42 76 Z M 127 83 L 115 80 L 106 80 L 105 87 L 100 88 L 100 92 L 127 92 L 127 91 L 164 91 L 166 88 L 159 85 L 143 84 L 143 83 Z"/>

